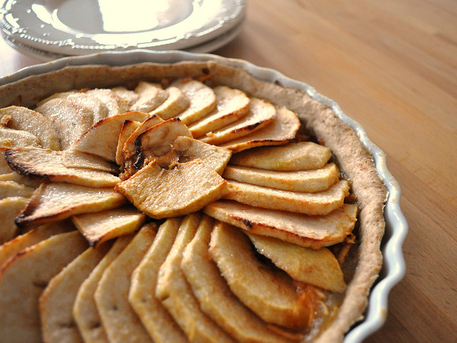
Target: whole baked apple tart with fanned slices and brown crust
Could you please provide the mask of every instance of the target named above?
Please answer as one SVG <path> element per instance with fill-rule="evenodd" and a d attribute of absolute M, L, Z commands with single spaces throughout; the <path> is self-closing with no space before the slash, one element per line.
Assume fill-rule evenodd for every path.
<path fill-rule="evenodd" d="M 215 61 L 0 87 L 1 342 L 341 342 L 386 190 L 306 93 Z"/>

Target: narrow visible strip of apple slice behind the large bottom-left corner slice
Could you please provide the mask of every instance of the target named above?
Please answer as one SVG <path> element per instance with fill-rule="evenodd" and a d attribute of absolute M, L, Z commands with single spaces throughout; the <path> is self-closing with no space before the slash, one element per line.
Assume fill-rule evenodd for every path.
<path fill-rule="evenodd" d="M 36 245 L 36 243 L 46 240 L 51 236 L 74 230 L 76 230 L 76 227 L 74 227 L 69 220 L 47 222 L 13 240 L 9 240 L 3 245 L 0 245 L 0 268 L 7 260 L 24 250 L 26 247 Z"/>

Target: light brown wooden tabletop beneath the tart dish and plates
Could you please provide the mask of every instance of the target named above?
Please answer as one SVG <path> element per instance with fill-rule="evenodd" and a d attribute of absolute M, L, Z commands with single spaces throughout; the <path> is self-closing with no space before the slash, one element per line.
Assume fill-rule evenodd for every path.
<path fill-rule="evenodd" d="M 407 272 L 367 342 L 457 342 L 455 0 L 249 0 L 241 35 L 215 53 L 311 84 L 386 152 Z M 0 61 L 0 76 L 39 63 L 4 41 Z"/>

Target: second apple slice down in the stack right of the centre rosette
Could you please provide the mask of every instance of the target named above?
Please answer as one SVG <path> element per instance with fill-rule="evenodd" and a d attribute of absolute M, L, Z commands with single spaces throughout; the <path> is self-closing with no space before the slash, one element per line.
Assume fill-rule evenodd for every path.
<path fill-rule="evenodd" d="M 225 168 L 224 178 L 240 183 L 250 183 L 278 190 L 293 192 L 316 193 L 327 190 L 338 182 L 340 172 L 335 163 L 328 163 L 316 170 L 281 172 L 259 168 L 229 165 Z"/>

